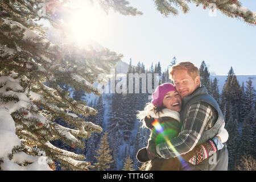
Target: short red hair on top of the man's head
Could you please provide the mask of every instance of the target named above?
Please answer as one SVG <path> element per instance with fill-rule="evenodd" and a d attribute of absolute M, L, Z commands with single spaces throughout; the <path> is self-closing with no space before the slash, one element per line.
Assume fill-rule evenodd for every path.
<path fill-rule="evenodd" d="M 170 76 L 169 78 L 173 80 L 174 72 L 180 69 L 185 69 L 188 72 L 188 75 L 195 80 L 197 76 L 199 76 L 199 69 L 191 62 L 185 61 L 181 63 L 177 63 L 171 67 Z"/>

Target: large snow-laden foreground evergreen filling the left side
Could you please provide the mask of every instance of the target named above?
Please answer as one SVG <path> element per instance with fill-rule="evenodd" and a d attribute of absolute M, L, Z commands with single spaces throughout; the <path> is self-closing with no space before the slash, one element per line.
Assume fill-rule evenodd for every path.
<path fill-rule="evenodd" d="M 95 51 L 49 42 L 38 20 L 46 19 L 52 26 L 61 27 L 58 23 L 61 18 L 51 14 L 52 11 L 42 15 L 44 3 L 44 0 L 0 2 L 0 104 L 6 108 L 1 109 L 5 118 L 9 118 L 16 129 L 15 142 L 2 143 L 5 141 L 1 140 L 0 144 L 8 148 L 14 147 L 14 143 L 19 145 L 19 150 L 8 151 L 12 156 L 19 152 L 26 154 L 18 162 L 21 166 L 6 155 L 0 158 L 20 170 L 26 170 L 30 167 L 26 162 L 30 161 L 30 155 L 37 156 L 39 150 L 43 150 L 47 156 L 46 164 L 52 169 L 55 169 L 53 160 L 56 160 L 69 169 L 87 170 L 90 163 L 82 161 L 85 159 L 83 155 L 61 150 L 49 142 L 60 139 L 72 148 L 84 148 L 80 138 L 89 138 L 92 133 L 102 131 L 100 126 L 84 122 L 83 118 L 77 116 L 96 114 L 97 111 L 86 106 L 86 102 L 69 97 L 69 92 L 61 85 L 100 94 L 93 82 L 97 81 L 100 73 L 109 73 L 121 55 L 109 49 Z M 68 1 L 56 1 L 51 9 L 62 9 L 65 3 Z M 109 9 L 109 6 L 102 7 L 106 11 Z M 112 7 L 122 14 L 141 14 L 137 9 L 128 7 L 127 2 L 115 1 Z M 65 9 L 69 10 L 69 7 L 65 6 Z M 10 105 L 14 102 L 16 105 Z M 56 123 L 58 118 L 70 127 Z M 2 134 L 0 138 L 5 137 Z M 34 166 L 35 161 L 31 162 Z"/>

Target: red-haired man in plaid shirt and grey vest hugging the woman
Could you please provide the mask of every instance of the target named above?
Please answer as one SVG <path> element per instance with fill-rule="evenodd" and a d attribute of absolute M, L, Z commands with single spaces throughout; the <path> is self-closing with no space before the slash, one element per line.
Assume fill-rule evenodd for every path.
<path fill-rule="evenodd" d="M 183 155 L 197 144 L 214 138 L 225 122 L 217 102 L 208 94 L 205 86 L 200 85 L 199 69 L 194 64 L 181 62 L 172 66 L 170 78 L 174 81 L 175 88 L 182 98 L 180 120 L 183 127 L 177 137 L 155 146 L 158 156 L 164 159 Z M 218 144 L 221 145 L 221 142 Z M 226 144 L 214 157 L 216 157 L 214 161 L 209 158 L 190 167 L 194 170 L 228 170 Z"/>

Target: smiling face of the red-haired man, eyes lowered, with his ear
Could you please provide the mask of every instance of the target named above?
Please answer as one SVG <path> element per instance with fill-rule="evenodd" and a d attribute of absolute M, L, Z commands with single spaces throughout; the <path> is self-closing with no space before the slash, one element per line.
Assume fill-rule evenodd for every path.
<path fill-rule="evenodd" d="M 176 70 L 173 79 L 177 92 L 179 92 L 181 98 L 192 94 L 200 85 L 200 77 L 197 76 L 195 80 L 193 80 L 185 69 Z"/>

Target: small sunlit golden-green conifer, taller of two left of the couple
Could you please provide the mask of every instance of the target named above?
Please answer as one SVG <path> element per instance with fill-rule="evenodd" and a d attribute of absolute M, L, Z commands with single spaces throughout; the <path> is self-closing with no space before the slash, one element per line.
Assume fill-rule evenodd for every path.
<path fill-rule="evenodd" d="M 112 160 L 112 155 L 110 154 L 111 152 L 112 151 L 109 150 L 108 133 L 105 133 L 101 138 L 100 148 L 96 151 L 98 156 L 94 156 L 94 158 L 97 159 L 97 163 L 94 163 L 97 170 L 105 171 L 110 168 L 109 164 L 114 162 Z"/>

